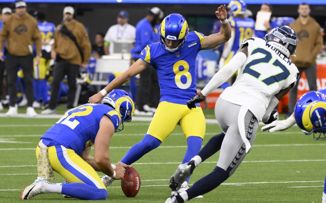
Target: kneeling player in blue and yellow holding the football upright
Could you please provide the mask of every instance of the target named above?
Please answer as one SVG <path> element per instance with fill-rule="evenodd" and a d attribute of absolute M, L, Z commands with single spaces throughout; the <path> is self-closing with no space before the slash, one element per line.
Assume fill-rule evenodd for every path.
<path fill-rule="evenodd" d="M 131 121 L 135 110 L 129 96 L 118 94 L 121 91 L 113 90 L 103 98 L 101 104 L 84 104 L 69 109 L 41 136 L 36 148 L 39 176 L 42 176 L 39 164 L 44 163 L 40 165 L 41 168 L 49 166 L 49 170 L 43 171 L 45 175 L 37 177 L 33 184 L 25 188 L 22 199 L 42 193 L 61 193 L 91 200 L 107 198 L 107 189 L 96 171 L 118 180 L 124 177 L 126 168 L 131 167 L 122 162 L 113 165 L 109 156 L 113 133 L 123 130 L 123 122 Z M 119 129 L 120 125 L 122 128 Z M 89 156 L 92 145 L 94 158 Z M 43 157 L 43 152 L 48 155 Z M 44 177 L 52 169 L 69 183 L 48 182 Z"/>

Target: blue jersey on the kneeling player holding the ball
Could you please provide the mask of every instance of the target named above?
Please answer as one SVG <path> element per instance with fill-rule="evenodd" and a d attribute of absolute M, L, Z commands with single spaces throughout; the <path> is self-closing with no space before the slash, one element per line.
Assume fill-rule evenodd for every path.
<path fill-rule="evenodd" d="M 111 119 L 115 130 L 121 124 L 121 116 L 114 108 L 105 104 L 84 104 L 67 110 L 41 139 L 47 146 L 62 145 L 80 155 L 86 147 L 94 145 L 103 115 Z"/>

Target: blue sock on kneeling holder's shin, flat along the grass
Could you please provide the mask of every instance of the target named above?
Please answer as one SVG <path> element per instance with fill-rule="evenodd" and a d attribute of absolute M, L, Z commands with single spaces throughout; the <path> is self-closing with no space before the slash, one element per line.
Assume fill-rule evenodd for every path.
<path fill-rule="evenodd" d="M 106 199 L 108 191 L 106 189 L 99 189 L 84 183 L 67 183 L 62 184 L 61 193 L 71 197 L 80 199 Z"/>

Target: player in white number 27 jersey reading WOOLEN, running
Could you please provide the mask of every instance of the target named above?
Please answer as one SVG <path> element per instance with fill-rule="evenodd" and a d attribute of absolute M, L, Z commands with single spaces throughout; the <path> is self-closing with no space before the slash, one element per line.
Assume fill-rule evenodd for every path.
<path fill-rule="evenodd" d="M 228 179 L 253 145 L 259 121 L 269 119 L 279 100 L 296 83 L 298 70 L 289 61 L 298 43 L 295 32 L 288 26 L 274 28 L 265 36 L 265 40 L 244 40 L 240 51 L 230 62 L 214 75 L 199 95 L 187 102 L 188 108 L 196 108 L 196 103 L 203 101 L 205 96 L 238 70 L 233 85 L 223 91 L 215 104 L 217 122 L 225 133 L 217 166 L 184 192 L 172 192 L 166 203 L 188 201 L 213 190 Z M 195 167 L 218 150 L 216 146 L 220 144 L 214 137 L 190 162 L 178 166 L 170 178 L 173 191 L 178 190 Z"/>

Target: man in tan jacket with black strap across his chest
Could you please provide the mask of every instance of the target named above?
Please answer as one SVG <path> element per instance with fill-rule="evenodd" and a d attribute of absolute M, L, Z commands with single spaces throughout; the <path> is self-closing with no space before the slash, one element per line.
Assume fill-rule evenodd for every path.
<path fill-rule="evenodd" d="M 53 68 L 51 98 L 49 107 L 43 110 L 41 114 L 56 113 L 59 85 L 65 75 L 68 77 L 69 86 L 67 109 L 73 108 L 76 94 L 76 76 L 79 73 L 79 67 L 86 68 L 88 60 L 91 57 L 91 42 L 89 41 L 88 33 L 82 23 L 73 19 L 74 13 L 75 10 L 73 7 L 66 6 L 63 10 L 63 22 L 66 28 L 76 38 L 76 42 L 81 51 L 79 51 L 75 42 L 63 32 L 63 24 L 58 25 L 53 35 L 54 44 L 52 45 L 51 51 L 51 57 L 56 60 Z"/>

